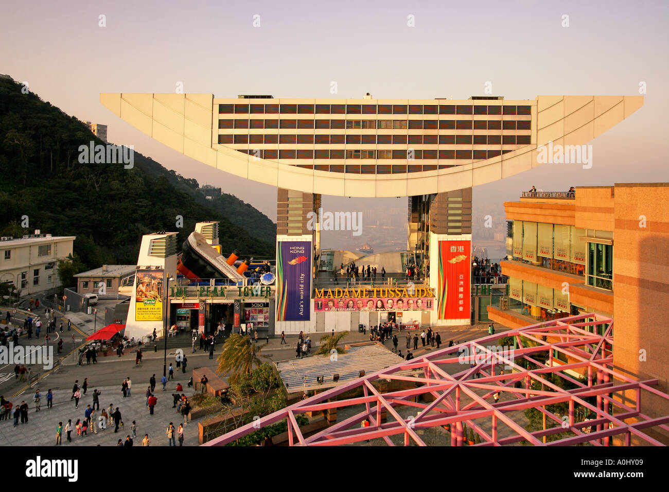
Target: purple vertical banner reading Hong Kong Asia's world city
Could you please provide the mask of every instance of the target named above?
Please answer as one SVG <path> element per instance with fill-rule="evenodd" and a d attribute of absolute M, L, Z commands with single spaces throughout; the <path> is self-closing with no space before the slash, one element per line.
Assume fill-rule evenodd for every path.
<path fill-rule="evenodd" d="M 276 321 L 309 321 L 311 242 L 278 243 L 276 285 Z"/>

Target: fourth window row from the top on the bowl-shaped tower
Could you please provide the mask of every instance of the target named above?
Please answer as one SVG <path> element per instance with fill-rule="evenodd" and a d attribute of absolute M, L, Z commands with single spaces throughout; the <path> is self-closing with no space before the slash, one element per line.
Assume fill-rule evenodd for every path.
<path fill-rule="evenodd" d="M 399 150 L 399 151 L 363 151 L 363 150 L 239 150 L 239 152 L 258 157 L 259 159 L 465 159 L 468 161 L 491 159 L 510 151 L 432 151 L 432 150 Z"/>

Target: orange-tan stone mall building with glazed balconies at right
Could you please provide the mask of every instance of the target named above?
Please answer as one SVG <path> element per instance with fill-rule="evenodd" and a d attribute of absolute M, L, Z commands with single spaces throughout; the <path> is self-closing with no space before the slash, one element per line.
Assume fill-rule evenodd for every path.
<path fill-rule="evenodd" d="M 613 317 L 613 367 L 669 389 L 669 183 L 522 193 L 505 202 L 512 225 L 509 295 L 490 319 L 517 328 L 583 313 Z M 601 327 L 603 328 L 603 326 Z M 601 333 L 600 333 L 601 334 Z M 560 359 L 556 363 L 567 363 Z M 634 407 L 636 394 L 619 396 Z M 645 408 L 666 412 L 648 395 Z M 646 406 L 647 405 L 647 406 Z"/>

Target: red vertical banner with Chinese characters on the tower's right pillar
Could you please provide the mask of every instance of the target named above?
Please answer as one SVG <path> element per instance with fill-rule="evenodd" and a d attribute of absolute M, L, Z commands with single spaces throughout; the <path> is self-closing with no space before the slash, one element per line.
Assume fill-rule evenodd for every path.
<path fill-rule="evenodd" d="M 439 242 L 439 319 L 469 319 L 472 242 Z"/>

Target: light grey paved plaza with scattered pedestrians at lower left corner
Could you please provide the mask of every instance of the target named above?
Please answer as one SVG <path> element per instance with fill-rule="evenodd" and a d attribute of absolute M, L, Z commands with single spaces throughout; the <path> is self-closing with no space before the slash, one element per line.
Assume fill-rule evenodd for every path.
<path fill-rule="evenodd" d="M 134 439 L 135 446 L 141 446 L 141 440 L 144 434 L 149 434 L 151 439 L 151 446 L 168 446 L 167 435 L 165 430 L 169 422 L 173 422 L 175 428 L 179 423 L 183 423 L 183 416 L 175 413 L 175 408 L 172 408 L 173 399 L 172 393 L 175 392 L 176 384 L 171 381 L 167 384 L 167 390 L 161 390 L 161 383 L 156 386 L 155 396 L 158 398 L 158 404 L 155 407 L 154 415 L 149 415 L 149 409 L 146 406 L 147 398 L 145 392 L 147 387 L 144 384 L 132 384 L 132 396 L 123 398 L 118 386 L 102 387 L 98 390 L 102 391 L 100 396 L 100 410 L 108 408 L 109 404 L 114 404 L 114 409 L 118 406 L 121 412 L 124 426 L 114 433 L 114 424 L 107 426 L 105 430 L 98 430 L 98 434 L 93 434 L 88 430 L 88 436 L 79 437 L 76 435 L 76 430 L 72 432 L 72 442 L 67 442 L 66 434 L 63 432 L 63 446 L 115 446 L 118 439 L 125 440 L 130 432 L 132 420 L 137 424 L 137 438 Z M 79 401 L 79 408 L 74 407 L 74 400 L 70 400 L 72 392 L 70 390 L 55 390 L 54 391 L 54 408 L 49 409 L 46 406 L 46 390 L 40 388 L 42 393 L 41 410 L 35 412 L 35 404 L 33 403 L 33 393 L 25 393 L 21 396 L 23 400 L 29 405 L 28 418 L 29 422 L 13 425 L 13 418 L 10 420 L 0 420 L 0 446 L 54 446 L 56 444 L 56 428 L 58 422 L 63 422 L 63 426 L 68 422 L 68 418 L 72 419 L 72 425 L 78 418 L 84 419 L 84 412 L 86 406 L 92 406 L 92 387 L 88 388 L 86 396 L 82 396 Z M 187 396 L 193 395 L 192 388 L 184 388 Z M 20 405 L 21 400 L 13 398 L 11 402 L 15 405 Z M 96 410 L 96 414 L 100 416 L 100 412 Z M 199 420 L 189 421 L 185 426 L 184 446 L 197 446 L 197 422 Z M 179 441 L 177 440 L 177 445 Z"/>

